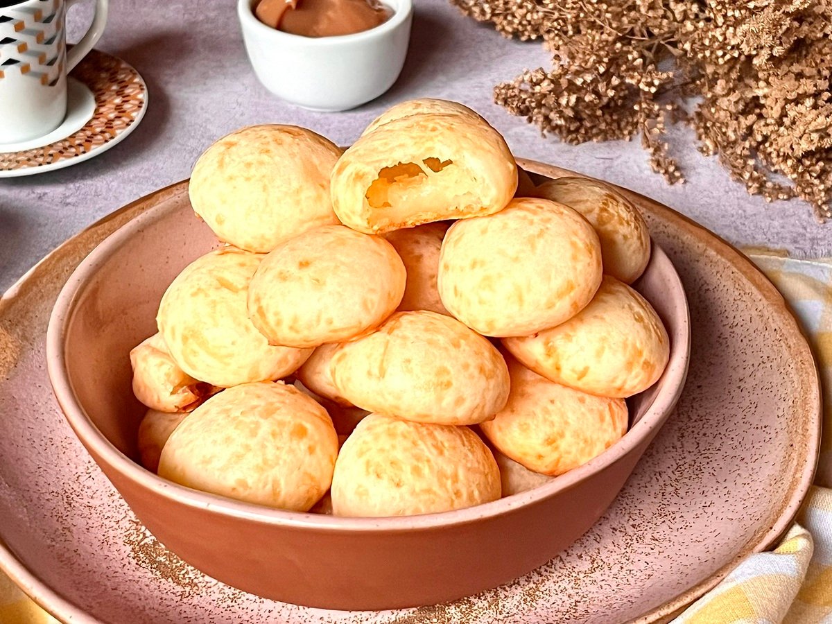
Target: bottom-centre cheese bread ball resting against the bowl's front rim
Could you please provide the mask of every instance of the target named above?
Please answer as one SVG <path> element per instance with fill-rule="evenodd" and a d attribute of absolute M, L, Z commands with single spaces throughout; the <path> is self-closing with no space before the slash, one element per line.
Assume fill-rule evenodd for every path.
<path fill-rule="evenodd" d="M 447 512 L 500 498 L 500 471 L 469 428 L 370 414 L 341 447 L 331 493 L 336 516 Z"/>

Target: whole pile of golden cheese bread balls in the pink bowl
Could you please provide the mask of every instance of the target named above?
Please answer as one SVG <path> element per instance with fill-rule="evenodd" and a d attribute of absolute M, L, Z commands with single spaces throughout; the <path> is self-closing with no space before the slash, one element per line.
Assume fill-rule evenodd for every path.
<path fill-rule="evenodd" d="M 666 366 L 630 286 L 650 257 L 636 208 L 535 186 L 455 102 L 394 106 L 346 151 L 246 127 L 190 196 L 223 245 L 131 351 L 141 463 L 176 483 L 344 516 L 488 503 L 615 443 Z"/>

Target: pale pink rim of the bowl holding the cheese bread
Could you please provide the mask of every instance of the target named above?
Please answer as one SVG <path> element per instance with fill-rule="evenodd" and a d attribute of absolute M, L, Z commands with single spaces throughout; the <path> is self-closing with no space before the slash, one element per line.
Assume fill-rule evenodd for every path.
<path fill-rule="evenodd" d="M 92 448 L 102 460 L 111 468 L 129 478 L 132 482 L 146 488 L 152 493 L 169 498 L 175 503 L 186 504 L 191 508 L 201 508 L 206 511 L 220 512 L 230 518 L 255 521 L 266 525 L 280 527 L 294 527 L 300 529 L 325 530 L 330 532 L 409 532 L 414 529 L 433 529 L 450 527 L 470 522 L 478 522 L 486 518 L 494 518 L 511 513 L 518 508 L 540 503 L 557 493 L 575 487 L 578 483 L 592 478 L 604 468 L 611 466 L 618 460 L 631 453 L 645 438 L 651 438 L 653 433 L 665 423 L 672 409 L 679 399 L 685 385 L 687 367 L 691 349 L 691 319 L 687 306 L 687 297 L 671 260 L 659 245 L 651 241 L 651 262 L 655 259 L 666 260 L 671 266 L 669 284 L 673 290 L 678 290 L 684 304 L 685 314 L 678 321 L 681 324 L 681 341 L 671 340 L 671 354 L 664 373 L 657 384 L 662 384 L 651 406 L 637 423 L 631 426 L 624 436 L 612 444 L 603 453 L 578 468 L 573 468 L 552 481 L 543 483 L 537 488 L 526 492 L 513 494 L 506 498 L 499 498 L 491 503 L 483 503 L 470 508 L 457 509 L 450 512 L 426 513 L 416 516 L 402 516 L 389 518 L 344 518 L 318 513 L 290 512 L 281 509 L 268 508 L 254 503 L 244 503 L 225 498 L 217 494 L 201 492 L 186 488 L 178 483 L 167 481 L 154 473 L 142 468 L 141 465 L 128 458 L 116 448 L 92 423 L 72 388 L 69 379 L 65 357 L 66 330 L 74 314 L 77 301 L 88 285 L 92 275 L 95 275 L 111 255 L 121 248 L 136 232 L 141 231 L 154 221 L 166 215 L 171 210 L 165 203 L 152 206 L 141 215 L 137 215 L 126 224 L 121 225 L 111 235 L 97 245 L 72 272 L 61 293 L 57 297 L 52 314 L 47 325 L 47 373 L 52 383 L 52 391 L 67 421 L 77 437 L 88 449 Z"/>

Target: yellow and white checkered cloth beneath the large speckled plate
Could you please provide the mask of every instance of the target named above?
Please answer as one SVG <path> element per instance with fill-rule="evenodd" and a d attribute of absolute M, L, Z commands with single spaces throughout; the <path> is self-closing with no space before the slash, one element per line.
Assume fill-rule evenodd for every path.
<path fill-rule="evenodd" d="M 820 463 L 797 523 L 773 552 L 751 555 L 676 624 L 832 624 L 832 259 L 749 255 L 789 301 L 815 348 L 824 394 Z M 0 572 L 2 624 L 52 624 Z"/>

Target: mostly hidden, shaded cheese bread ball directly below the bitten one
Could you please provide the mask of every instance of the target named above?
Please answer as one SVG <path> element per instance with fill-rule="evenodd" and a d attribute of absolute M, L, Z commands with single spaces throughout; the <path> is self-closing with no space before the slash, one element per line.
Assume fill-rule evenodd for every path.
<path fill-rule="evenodd" d="M 439 252 L 442 250 L 442 239 L 450 225 L 447 221 L 438 221 L 406 230 L 395 230 L 384 236 L 399 253 L 404 268 L 408 271 L 404 297 L 398 310 L 430 310 L 450 315 L 442 305 L 436 287 Z"/>

